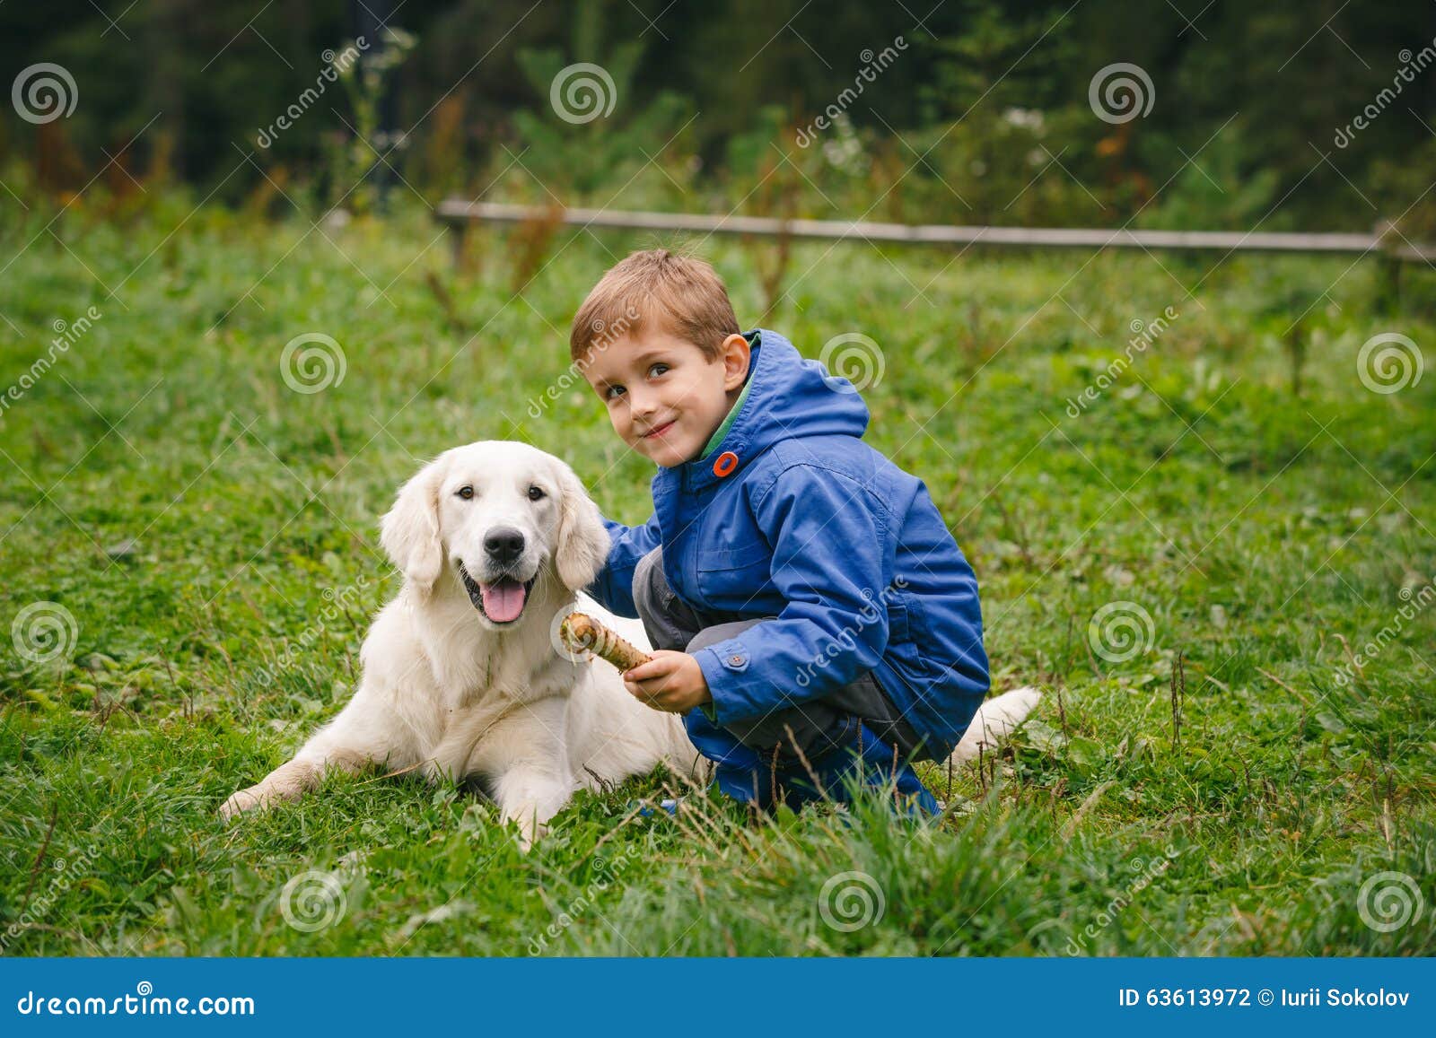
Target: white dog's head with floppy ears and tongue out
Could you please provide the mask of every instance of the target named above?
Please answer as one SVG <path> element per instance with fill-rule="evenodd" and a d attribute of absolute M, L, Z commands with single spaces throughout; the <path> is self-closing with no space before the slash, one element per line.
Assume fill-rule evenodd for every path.
<path fill-rule="evenodd" d="M 609 553 L 599 510 L 573 469 L 497 439 L 425 465 L 383 517 L 379 541 L 421 594 L 452 576 L 495 629 L 520 620 L 534 581 L 582 590 Z"/>

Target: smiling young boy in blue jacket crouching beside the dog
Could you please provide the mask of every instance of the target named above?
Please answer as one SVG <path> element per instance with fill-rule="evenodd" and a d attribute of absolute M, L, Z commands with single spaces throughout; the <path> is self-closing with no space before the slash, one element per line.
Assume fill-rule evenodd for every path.
<path fill-rule="evenodd" d="M 589 589 L 656 649 L 628 691 L 682 714 L 737 800 L 841 800 L 856 771 L 936 811 L 910 761 L 946 759 L 987 693 L 976 580 L 922 481 L 863 444 L 853 385 L 740 332 L 714 268 L 663 250 L 603 276 L 570 349 L 659 467 Z"/>

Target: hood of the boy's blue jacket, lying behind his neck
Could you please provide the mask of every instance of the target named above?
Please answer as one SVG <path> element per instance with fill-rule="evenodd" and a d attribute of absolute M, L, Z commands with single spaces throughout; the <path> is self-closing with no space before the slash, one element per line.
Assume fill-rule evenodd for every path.
<path fill-rule="evenodd" d="M 867 431 L 867 405 L 852 382 L 829 375 L 817 360 L 806 360 L 777 332 L 760 327 L 744 335 L 748 342 L 758 339 L 748 363 L 748 396 L 722 441 L 704 458 L 679 467 L 688 485 L 719 480 L 714 465 L 724 454 L 737 455 L 738 468 L 780 439 L 860 439 Z"/>

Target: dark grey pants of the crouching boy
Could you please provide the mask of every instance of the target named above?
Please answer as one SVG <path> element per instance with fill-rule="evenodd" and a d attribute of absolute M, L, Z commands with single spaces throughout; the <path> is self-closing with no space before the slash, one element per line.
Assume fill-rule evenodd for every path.
<path fill-rule="evenodd" d="M 699 613 L 678 597 L 663 574 L 663 550 L 653 548 L 633 571 L 633 602 L 638 604 L 643 629 L 655 649 L 696 652 L 705 646 L 734 637 L 773 617 L 737 619 L 734 616 Z M 777 689 L 780 693 L 785 689 Z M 864 673 L 850 685 L 843 685 L 821 699 L 808 699 L 793 706 L 774 709 L 765 716 L 728 722 L 724 726 L 742 745 L 793 761 L 800 754 L 808 761 L 819 759 L 831 749 L 856 741 L 860 719 L 887 747 L 898 747 L 902 757 L 916 752 L 919 738 L 902 719 L 900 711 Z"/>

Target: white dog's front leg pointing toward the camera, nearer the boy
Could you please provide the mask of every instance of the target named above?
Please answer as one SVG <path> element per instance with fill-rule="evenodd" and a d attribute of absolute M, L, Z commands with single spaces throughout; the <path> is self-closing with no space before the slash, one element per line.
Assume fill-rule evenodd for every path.
<path fill-rule="evenodd" d="M 526 851 L 573 795 L 566 712 L 560 696 L 516 706 L 470 757 L 470 772 L 490 777 L 500 817 L 518 823 L 518 846 Z"/>

